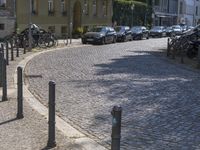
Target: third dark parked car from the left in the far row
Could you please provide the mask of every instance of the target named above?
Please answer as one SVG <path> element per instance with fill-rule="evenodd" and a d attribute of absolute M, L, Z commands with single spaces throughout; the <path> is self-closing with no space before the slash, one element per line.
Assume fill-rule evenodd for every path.
<path fill-rule="evenodd" d="M 131 28 L 132 38 L 135 40 L 149 39 L 149 30 L 144 26 L 134 26 Z"/>

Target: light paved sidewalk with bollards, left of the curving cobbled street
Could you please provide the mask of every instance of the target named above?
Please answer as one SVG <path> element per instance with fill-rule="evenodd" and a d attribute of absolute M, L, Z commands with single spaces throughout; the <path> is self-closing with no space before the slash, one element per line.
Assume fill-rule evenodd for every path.
<path fill-rule="evenodd" d="M 80 46 L 80 39 L 73 40 L 67 47 Z M 48 121 L 45 116 L 34 110 L 28 99 L 24 98 L 24 118 L 16 119 L 17 89 L 15 88 L 14 74 L 18 64 L 36 52 L 21 54 L 7 66 L 8 101 L 0 101 L 0 150 L 39 150 L 47 149 Z M 2 88 L 0 88 L 2 96 Z M 26 96 L 24 96 L 26 97 Z M 66 135 L 66 133 L 65 133 Z M 87 150 L 76 139 L 65 136 L 56 129 L 56 150 Z M 77 144 L 79 143 L 79 144 Z M 85 143 L 87 144 L 87 143 Z"/>

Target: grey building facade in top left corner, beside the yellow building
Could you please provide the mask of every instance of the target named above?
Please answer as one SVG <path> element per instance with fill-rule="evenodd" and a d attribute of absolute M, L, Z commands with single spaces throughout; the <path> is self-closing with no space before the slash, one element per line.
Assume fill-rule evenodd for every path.
<path fill-rule="evenodd" d="M 0 0 L 0 38 L 15 31 L 14 0 Z"/>

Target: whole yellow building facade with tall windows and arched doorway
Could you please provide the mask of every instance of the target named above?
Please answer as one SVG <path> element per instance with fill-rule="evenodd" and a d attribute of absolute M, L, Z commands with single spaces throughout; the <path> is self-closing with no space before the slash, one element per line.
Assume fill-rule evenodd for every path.
<path fill-rule="evenodd" d="M 16 1 L 16 21 L 19 31 L 27 28 L 31 22 L 61 35 L 79 27 L 111 25 L 112 13 L 112 0 Z"/>

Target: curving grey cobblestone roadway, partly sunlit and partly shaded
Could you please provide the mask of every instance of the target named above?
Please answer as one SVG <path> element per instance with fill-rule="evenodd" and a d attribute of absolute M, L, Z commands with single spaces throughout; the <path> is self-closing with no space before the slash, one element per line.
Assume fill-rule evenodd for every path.
<path fill-rule="evenodd" d="M 150 39 L 49 52 L 34 58 L 30 89 L 47 105 L 48 81 L 57 111 L 108 146 L 114 105 L 123 107 L 122 150 L 200 149 L 199 72 L 153 53 L 167 39 Z"/>

